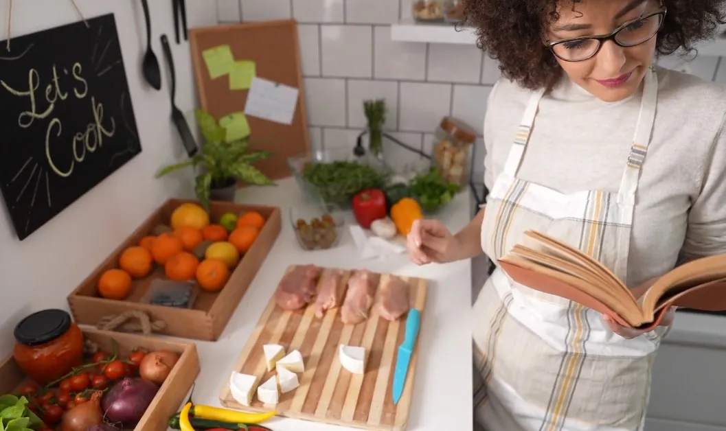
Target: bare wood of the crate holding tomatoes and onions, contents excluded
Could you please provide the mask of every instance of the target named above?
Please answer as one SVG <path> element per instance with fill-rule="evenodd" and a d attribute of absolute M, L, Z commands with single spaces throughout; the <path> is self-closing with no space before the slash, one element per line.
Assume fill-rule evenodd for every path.
<path fill-rule="evenodd" d="M 147 351 L 171 350 L 179 353 L 179 361 L 134 428 L 134 431 L 166 431 L 169 417 L 173 416 L 179 410 L 181 403 L 186 400 L 187 393 L 199 374 L 197 347 L 192 343 L 161 340 L 158 337 L 106 332 L 91 328 L 81 328 L 81 330 L 86 339 L 107 352 L 113 350 L 113 341 L 115 341 L 121 356 L 129 355 L 136 348 Z M 0 362 L 0 394 L 15 393 L 27 380 L 12 355 Z"/>

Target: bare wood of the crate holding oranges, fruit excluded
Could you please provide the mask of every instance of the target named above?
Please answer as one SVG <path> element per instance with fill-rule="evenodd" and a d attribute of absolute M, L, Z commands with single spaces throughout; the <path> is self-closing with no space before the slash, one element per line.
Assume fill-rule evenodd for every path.
<path fill-rule="evenodd" d="M 121 252 L 126 247 L 137 245 L 152 231 L 154 226 L 160 223 L 168 224 L 174 209 L 185 202 L 195 201 L 171 199 L 161 205 L 76 290 L 68 295 L 70 311 L 76 322 L 96 326 L 106 316 L 117 316 L 126 311 L 137 310 L 147 313 L 152 321 L 166 323 L 166 328 L 161 330 L 160 334 L 205 341 L 216 341 L 219 338 L 232 317 L 234 309 L 237 308 L 237 304 L 247 292 L 269 250 L 280 235 L 282 228 L 280 208 L 232 202 L 211 202 L 210 213 L 213 220 L 217 220 L 227 212 L 242 213 L 255 210 L 264 216 L 266 223 L 248 253 L 245 253 L 240 263 L 234 268 L 224 289 L 219 292 L 196 289 L 196 299 L 192 308 L 181 309 L 141 302 L 152 279 L 164 276 L 163 268 L 159 267 L 155 268 L 152 274 L 145 279 L 135 280 L 131 294 L 126 300 L 109 300 L 100 297 L 97 293 L 98 279 L 107 269 L 118 267 L 118 257 Z"/>

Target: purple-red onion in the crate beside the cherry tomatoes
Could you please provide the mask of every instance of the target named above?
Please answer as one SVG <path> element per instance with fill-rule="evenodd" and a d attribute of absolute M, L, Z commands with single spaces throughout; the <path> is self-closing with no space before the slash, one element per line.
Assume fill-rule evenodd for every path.
<path fill-rule="evenodd" d="M 121 423 L 124 427 L 139 422 L 149 408 L 159 387 L 148 380 L 126 377 L 111 387 L 101 401 L 106 422 Z"/>

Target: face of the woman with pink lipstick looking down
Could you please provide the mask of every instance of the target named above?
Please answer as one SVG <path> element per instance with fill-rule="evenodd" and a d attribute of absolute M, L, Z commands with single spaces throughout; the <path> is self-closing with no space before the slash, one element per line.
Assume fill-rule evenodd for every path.
<path fill-rule="evenodd" d="M 621 42 L 636 43 L 657 30 L 659 17 L 641 18 L 661 9 L 658 0 L 584 0 L 573 4 L 560 3 L 560 19 L 547 28 L 549 41 L 610 34 L 621 25 Z M 593 52 L 597 42 L 592 39 L 559 44 L 558 56 L 582 58 Z M 642 44 L 624 48 L 613 40 L 600 44 L 597 54 L 589 59 L 568 62 L 555 56 L 565 73 L 583 89 L 605 102 L 616 102 L 635 93 L 643 81 L 656 51 L 656 37 Z"/>

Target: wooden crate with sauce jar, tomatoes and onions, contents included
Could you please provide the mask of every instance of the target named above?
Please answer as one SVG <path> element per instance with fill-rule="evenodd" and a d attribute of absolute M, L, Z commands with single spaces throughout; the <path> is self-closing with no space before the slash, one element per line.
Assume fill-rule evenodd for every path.
<path fill-rule="evenodd" d="M 79 329 L 62 310 L 15 328 L 0 363 L 4 431 L 163 431 L 199 374 L 194 344 Z"/>

